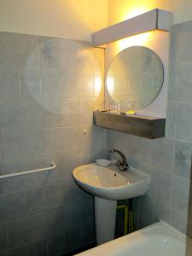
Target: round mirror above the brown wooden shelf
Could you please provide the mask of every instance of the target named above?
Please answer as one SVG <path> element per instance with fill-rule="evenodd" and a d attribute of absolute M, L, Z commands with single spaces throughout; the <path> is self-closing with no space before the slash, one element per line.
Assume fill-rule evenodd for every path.
<path fill-rule="evenodd" d="M 141 109 L 154 101 L 163 84 L 160 57 L 143 46 L 124 49 L 108 67 L 107 88 L 111 102 L 125 110 Z"/>

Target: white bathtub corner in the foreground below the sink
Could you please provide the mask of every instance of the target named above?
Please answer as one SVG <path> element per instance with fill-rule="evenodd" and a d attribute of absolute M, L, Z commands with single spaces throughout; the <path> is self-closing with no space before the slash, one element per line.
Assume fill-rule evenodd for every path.
<path fill-rule="evenodd" d="M 184 256 L 185 236 L 159 222 L 92 248 L 79 256 Z"/>

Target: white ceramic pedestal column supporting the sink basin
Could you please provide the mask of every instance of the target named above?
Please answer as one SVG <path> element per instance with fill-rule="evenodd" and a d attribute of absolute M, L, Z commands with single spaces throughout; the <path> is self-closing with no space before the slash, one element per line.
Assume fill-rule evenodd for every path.
<path fill-rule="evenodd" d="M 96 218 L 96 244 L 114 239 L 117 201 L 94 197 Z"/>

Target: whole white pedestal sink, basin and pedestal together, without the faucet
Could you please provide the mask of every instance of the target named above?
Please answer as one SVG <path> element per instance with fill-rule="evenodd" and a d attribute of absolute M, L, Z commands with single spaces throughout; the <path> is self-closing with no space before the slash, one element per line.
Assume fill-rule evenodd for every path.
<path fill-rule="evenodd" d="M 145 194 L 149 184 L 147 174 L 135 169 L 120 172 L 114 165 L 79 166 L 73 170 L 73 178 L 94 195 L 97 245 L 114 238 L 117 201 Z"/>

